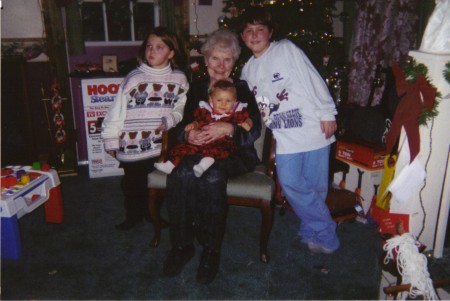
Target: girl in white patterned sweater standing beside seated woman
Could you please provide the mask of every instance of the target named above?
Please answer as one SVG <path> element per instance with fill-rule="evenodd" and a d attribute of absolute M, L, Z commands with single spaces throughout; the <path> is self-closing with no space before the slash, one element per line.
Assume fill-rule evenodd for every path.
<path fill-rule="evenodd" d="M 161 135 L 183 118 L 188 80 L 181 71 L 187 54 L 180 39 L 165 28 L 153 29 L 139 49 L 141 64 L 120 85 L 118 96 L 103 121 L 106 152 L 124 170 L 122 190 L 129 230 L 147 210 L 147 174 L 161 153 Z M 163 98 L 170 91 L 171 99 Z M 167 93 L 166 93 L 167 94 Z"/>

